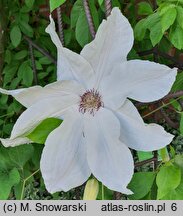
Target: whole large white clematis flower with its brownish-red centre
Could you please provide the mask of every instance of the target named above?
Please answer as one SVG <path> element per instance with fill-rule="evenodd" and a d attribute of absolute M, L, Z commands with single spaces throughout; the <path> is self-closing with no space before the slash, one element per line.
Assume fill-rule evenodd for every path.
<path fill-rule="evenodd" d="M 134 163 L 129 148 L 153 151 L 173 135 L 157 124 L 145 124 L 127 98 L 150 102 L 165 96 L 176 69 L 150 61 L 127 61 L 133 30 L 118 8 L 100 25 L 96 38 L 80 55 L 62 47 L 53 19 L 46 31 L 58 50 L 57 82 L 42 88 L 2 93 L 27 110 L 18 118 L 4 146 L 31 142 L 26 138 L 42 120 L 63 118 L 48 136 L 41 172 L 49 192 L 68 191 L 91 173 L 108 188 L 125 194 Z"/>

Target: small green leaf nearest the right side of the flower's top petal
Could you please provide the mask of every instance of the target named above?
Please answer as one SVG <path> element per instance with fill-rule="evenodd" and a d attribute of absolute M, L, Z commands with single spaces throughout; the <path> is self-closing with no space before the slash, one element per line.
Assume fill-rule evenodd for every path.
<path fill-rule="evenodd" d="M 146 30 L 147 30 L 146 19 L 142 19 L 135 26 L 134 29 L 135 39 L 138 41 L 142 41 L 145 37 Z"/>

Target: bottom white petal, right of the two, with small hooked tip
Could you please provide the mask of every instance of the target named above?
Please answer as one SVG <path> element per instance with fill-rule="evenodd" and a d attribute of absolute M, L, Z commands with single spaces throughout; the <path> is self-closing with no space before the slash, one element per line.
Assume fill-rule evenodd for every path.
<path fill-rule="evenodd" d="M 84 134 L 93 175 L 109 189 L 131 194 L 126 187 L 133 175 L 133 158 L 118 139 L 120 123 L 115 115 L 103 108 L 94 117 L 86 114 Z"/>

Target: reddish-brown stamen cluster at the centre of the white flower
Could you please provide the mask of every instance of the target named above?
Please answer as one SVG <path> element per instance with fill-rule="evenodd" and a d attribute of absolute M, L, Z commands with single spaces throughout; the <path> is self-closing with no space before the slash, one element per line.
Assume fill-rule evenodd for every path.
<path fill-rule="evenodd" d="M 95 112 L 103 107 L 104 104 L 101 100 L 101 95 L 95 89 L 87 90 L 82 96 L 80 96 L 79 112 L 89 112 L 95 115 Z"/>

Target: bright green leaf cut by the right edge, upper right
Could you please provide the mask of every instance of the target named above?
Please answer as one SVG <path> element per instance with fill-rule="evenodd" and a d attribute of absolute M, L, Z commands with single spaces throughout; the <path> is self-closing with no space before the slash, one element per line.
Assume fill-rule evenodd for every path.
<path fill-rule="evenodd" d="M 183 29 L 178 24 L 171 27 L 169 38 L 177 49 L 181 50 L 183 48 Z"/>

